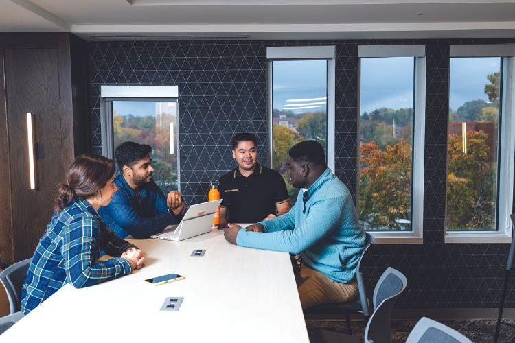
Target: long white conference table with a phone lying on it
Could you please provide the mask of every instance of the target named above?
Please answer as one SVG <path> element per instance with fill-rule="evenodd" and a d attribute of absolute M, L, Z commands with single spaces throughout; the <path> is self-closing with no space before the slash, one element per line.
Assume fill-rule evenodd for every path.
<path fill-rule="evenodd" d="M 0 342 L 309 342 L 287 253 L 229 244 L 222 230 L 129 241 L 146 252 L 144 268 L 92 287 L 65 285 Z M 207 251 L 192 257 L 194 249 Z M 144 281 L 171 273 L 185 279 Z M 160 311 L 169 296 L 184 297 L 179 311 Z"/>

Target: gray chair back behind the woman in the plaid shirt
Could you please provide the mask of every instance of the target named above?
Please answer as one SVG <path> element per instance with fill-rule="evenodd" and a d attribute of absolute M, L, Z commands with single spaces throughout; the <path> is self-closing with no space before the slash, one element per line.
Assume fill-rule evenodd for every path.
<path fill-rule="evenodd" d="M 20 310 L 21 287 L 27 278 L 30 261 L 32 259 L 16 262 L 0 273 L 0 281 L 7 292 L 11 314 Z"/>

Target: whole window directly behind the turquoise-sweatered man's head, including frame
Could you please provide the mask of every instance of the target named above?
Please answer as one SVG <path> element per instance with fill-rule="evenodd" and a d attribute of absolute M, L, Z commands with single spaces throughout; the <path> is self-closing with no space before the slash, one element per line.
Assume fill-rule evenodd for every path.
<path fill-rule="evenodd" d="M 271 166 L 295 200 L 297 190 L 286 178 L 290 147 L 318 141 L 334 171 L 334 47 L 272 47 L 267 58 Z"/>

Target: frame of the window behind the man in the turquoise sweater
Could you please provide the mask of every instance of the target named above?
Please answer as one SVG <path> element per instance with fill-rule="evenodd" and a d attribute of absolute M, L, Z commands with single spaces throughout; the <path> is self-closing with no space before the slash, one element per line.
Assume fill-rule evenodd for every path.
<path fill-rule="evenodd" d="M 328 126 L 327 126 L 327 134 L 328 134 L 328 151 L 327 151 L 327 161 L 328 168 L 332 170 L 334 173 L 334 135 L 335 135 L 335 107 L 336 102 L 334 100 L 335 90 L 336 90 L 336 67 L 335 67 L 335 47 L 334 45 L 323 45 L 323 46 L 302 46 L 302 47 L 267 47 L 266 48 L 266 62 L 267 62 L 267 88 L 268 88 L 268 165 L 272 167 L 272 156 L 273 156 L 273 119 L 272 119 L 272 63 L 273 61 L 281 60 L 327 60 L 328 61 L 328 70 L 327 70 L 327 90 L 328 90 Z"/>

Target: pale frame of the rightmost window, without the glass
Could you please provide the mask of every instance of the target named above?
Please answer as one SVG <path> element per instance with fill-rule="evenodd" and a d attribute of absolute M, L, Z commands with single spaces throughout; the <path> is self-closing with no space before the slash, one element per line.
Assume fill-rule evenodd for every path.
<path fill-rule="evenodd" d="M 501 57 L 501 129 L 499 138 L 499 172 L 497 180 L 496 230 L 447 230 L 445 243 L 511 243 L 513 212 L 513 185 L 515 161 L 515 45 L 450 45 L 449 58 L 453 57 Z M 449 73 L 450 75 L 450 73 Z M 449 88 L 450 97 L 450 88 Z M 447 134 L 448 136 L 448 134 Z M 447 171 L 446 171 L 447 174 Z M 446 176 L 447 182 L 447 176 Z M 506 187 L 500 187 L 506 185 Z M 446 196 L 447 209 L 447 196 Z M 446 216 L 447 218 L 447 213 Z"/>

